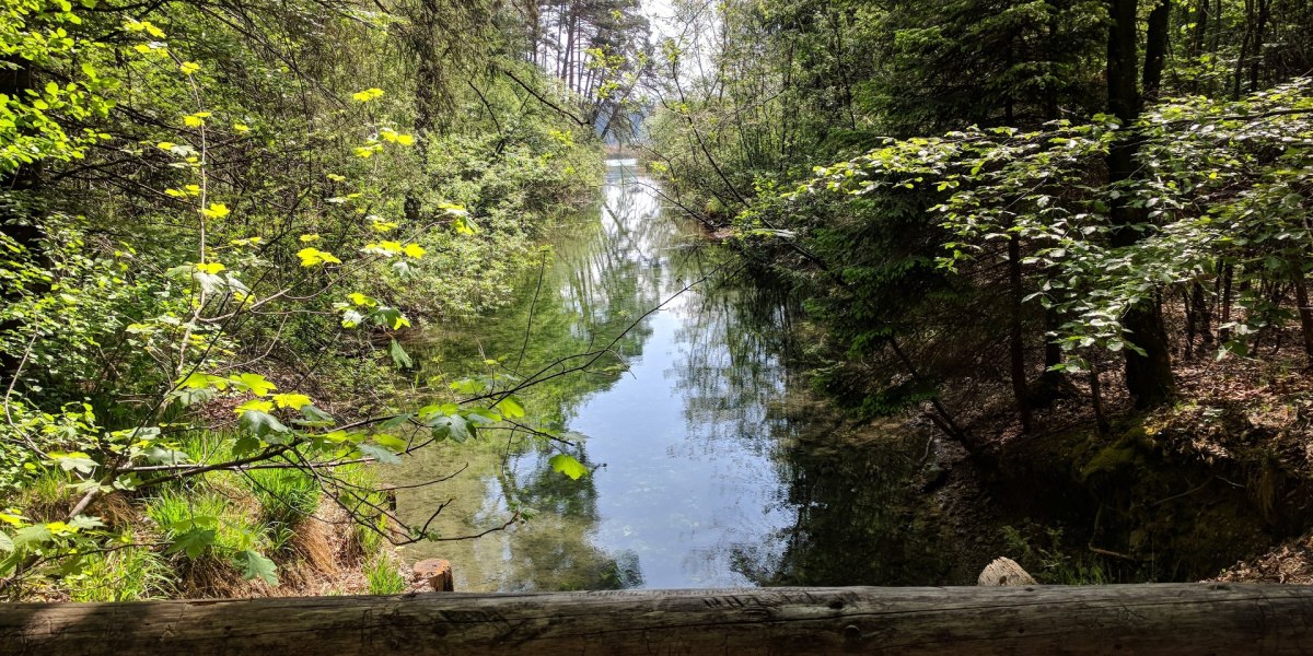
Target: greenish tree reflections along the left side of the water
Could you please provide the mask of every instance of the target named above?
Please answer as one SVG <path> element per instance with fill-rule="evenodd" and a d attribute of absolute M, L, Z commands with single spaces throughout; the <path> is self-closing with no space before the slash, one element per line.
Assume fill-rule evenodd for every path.
<path fill-rule="evenodd" d="M 542 272 L 541 289 L 540 272 L 534 268 L 495 320 L 465 324 L 411 346 L 421 363 L 420 378 L 481 374 L 484 371 L 479 362 L 484 357 L 499 358 L 506 367 L 519 362 L 521 375 L 537 371 L 562 358 L 605 346 L 664 300 L 666 281 L 654 258 L 680 239 L 678 226 L 659 218 L 660 206 L 647 186 L 617 178 L 609 182 L 604 202 L 591 210 L 600 213 L 601 220 L 586 213 L 583 220 L 559 228 Z M 622 375 L 617 357 L 628 359 L 642 354 L 650 332 L 646 325 L 630 329 L 612 346 L 613 356 L 603 358 L 592 371 L 536 384 L 524 394 L 527 409 L 544 425 L 563 428 L 590 395 L 609 388 Z M 507 442 L 506 451 L 482 449 L 471 454 L 484 461 L 474 475 L 483 476 L 488 489 L 483 491 L 483 499 L 470 500 L 475 504 L 473 508 L 465 509 L 462 521 L 470 529 L 504 521 L 508 508 L 502 502 L 491 509 L 478 506 L 486 505 L 488 499 L 515 500 L 538 512 L 513 534 L 500 537 L 507 551 L 506 571 L 495 576 L 498 585 L 541 590 L 642 585 L 635 552 L 605 554 L 592 544 L 591 535 L 599 521 L 593 482 L 588 476 L 570 480 L 553 471 L 549 458 L 559 449 L 559 445 L 538 440 L 515 438 Z M 583 442 L 569 450 L 588 464 Z M 461 454 L 460 449 L 452 453 L 456 455 Z M 503 455 L 509 457 L 506 466 Z M 498 492 L 492 492 L 494 487 Z M 446 518 L 452 520 L 452 516 Z"/>

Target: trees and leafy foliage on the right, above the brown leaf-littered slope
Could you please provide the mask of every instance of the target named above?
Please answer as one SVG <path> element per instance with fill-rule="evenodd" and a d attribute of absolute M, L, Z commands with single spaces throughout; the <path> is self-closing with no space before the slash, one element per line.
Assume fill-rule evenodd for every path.
<path fill-rule="evenodd" d="M 1285 5 L 1138 7 L 1127 43 L 1079 0 L 676 3 L 651 168 L 802 299 L 813 380 L 861 416 L 961 437 L 945 405 L 1007 390 L 1029 429 L 1117 361 L 1157 403 L 1196 342 L 1313 335 L 1313 31 Z"/>

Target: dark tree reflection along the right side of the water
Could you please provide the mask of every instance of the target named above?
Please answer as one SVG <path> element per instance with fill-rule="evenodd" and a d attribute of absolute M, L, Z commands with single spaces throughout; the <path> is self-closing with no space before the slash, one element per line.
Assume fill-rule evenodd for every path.
<path fill-rule="evenodd" d="M 793 525 L 760 543 L 722 544 L 760 585 L 941 581 L 947 538 L 913 479 L 924 437 L 853 430 L 792 373 L 797 308 L 768 289 L 725 281 L 691 303 L 674 366 L 691 436 L 769 453 Z M 860 437 L 853 437 L 860 436 Z"/>

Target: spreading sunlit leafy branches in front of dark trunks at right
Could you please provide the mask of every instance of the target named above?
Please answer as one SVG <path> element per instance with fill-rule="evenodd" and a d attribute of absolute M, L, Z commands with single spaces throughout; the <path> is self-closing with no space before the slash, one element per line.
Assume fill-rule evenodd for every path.
<path fill-rule="evenodd" d="M 1310 121 L 1310 83 L 1296 80 L 1238 102 L 1188 98 L 1146 113 L 1130 127 L 1141 135 L 1145 174 L 1117 185 L 1087 181 L 1124 130 L 1099 115 L 1031 133 L 973 129 L 890 142 L 818 168 L 806 189 L 937 192 L 934 211 L 952 234 L 941 266 L 989 262 L 997 244 L 1016 235 L 1029 245 L 1024 264 L 1036 278 L 1028 300 L 1070 318 L 1056 336 L 1065 349 L 1137 349 L 1121 325 L 1128 310 L 1167 286 L 1215 276 L 1218 262 L 1250 276 L 1302 274 L 1313 244 L 1301 190 L 1313 171 L 1305 148 L 1291 146 Z M 1146 237 L 1130 245 L 1108 239 L 1119 198 L 1145 210 L 1145 223 L 1130 230 Z M 1258 306 L 1246 316 L 1264 318 Z"/>

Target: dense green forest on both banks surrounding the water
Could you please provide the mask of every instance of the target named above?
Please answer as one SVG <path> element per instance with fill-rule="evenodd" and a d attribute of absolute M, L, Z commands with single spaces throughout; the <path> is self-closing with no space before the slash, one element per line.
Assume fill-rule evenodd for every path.
<path fill-rule="evenodd" d="M 1268 554 L 1313 552 L 1306 0 L 0 12 L 7 598 L 403 592 L 395 547 L 540 521 L 516 499 L 469 534 L 436 527 L 446 502 L 398 513 L 379 467 L 439 442 L 517 436 L 553 474 L 538 505 L 596 495 L 569 417 L 527 399 L 613 384 L 659 290 L 541 369 L 520 366 L 529 328 L 519 357 L 471 338 L 470 377 L 414 335 L 567 321 L 538 304 L 542 244 L 616 143 L 730 253 L 680 294 L 733 272 L 785 298 L 764 319 L 807 408 L 932 436 L 886 468 L 915 470 L 919 502 L 953 489 L 1037 522 L 979 531 L 1045 583 L 1236 558 L 1313 581 L 1313 558 Z M 871 583 L 797 555 L 851 523 L 843 495 L 890 495 L 835 491 L 800 502 L 793 565 L 748 579 Z M 642 584 L 637 558 L 608 576 Z"/>

